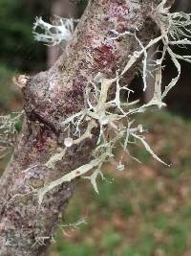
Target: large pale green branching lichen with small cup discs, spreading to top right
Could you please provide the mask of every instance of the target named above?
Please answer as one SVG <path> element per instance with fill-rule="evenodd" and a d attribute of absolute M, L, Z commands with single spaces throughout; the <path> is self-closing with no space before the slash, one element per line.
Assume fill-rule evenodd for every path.
<path fill-rule="evenodd" d="M 61 126 L 65 131 L 67 131 L 67 129 L 71 126 L 73 126 L 75 129 L 74 134 L 71 134 L 68 138 L 67 144 L 65 143 L 66 148 L 69 145 L 69 140 L 71 142 L 69 145 L 70 147 L 74 144 L 79 144 L 85 138 L 91 138 L 93 128 L 99 128 L 96 149 L 92 153 L 93 160 L 88 164 L 73 170 L 67 175 L 50 182 L 38 190 L 37 195 L 39 198 L 39 203 L 42 202 L 44 195 L 54 187 L 61 185 L 63 182 L 69 182 L 77 176 L 83 176 L 84 178 L 90 179 L 96 193 L 98 193 L 96 178 L 98 175 L 100 175 L 102 179 L 104 178 L 101 171 L 103 163 L 116 163 L 114 149 L 117 145 L 121 146 L 123 154 L 128 153 L 131 156 L 128 151 L 128 145 L 139 141 L 144 146 L 146 151 L 151 153 L 151 155 L 159 162 L 166 165 L 166 163 L 159 159 L 159 156 L 152 151 L 151 147 L 145 141 L 145 137 L 143 136 L 144 129 L 142 128 L 142 125 L 134 126 L 135 122 L 133 120 L 135 114 L 145 111 L 148 107 L 153 105 L 157 105 L 159 108 L 165 106 L 165 103 L 163 103 L 164 97 L 180 79 L 180 59 L 191 62 L 191 56 L 180 56 L 174 53 L 174 50 L 172 49 L 173 45 L 178 45 L 180 47 L 191 45 L 191 41 L 187 39 L 187 37 L 191 37 L 191 14 L 182 12 L 170 13 L 169 9 L 165 8 L 165 3 L 166 1 L 163 0 L 155 12 L 156 20 L 160 28 L 160 35 L 157 38 L 152 39 L 146 46 L 144 46 L 141 40 L 138 38 L 137 31 L 133 34 L 130 32 L 125 32 L 123 34 L 118 34 L 115 32 L 115 35 L 117 36 L 110 38 L 110 40 L 116 40 L 121 36 L 134 36 L 140 49 L 129 56 L 126 66 L 123 70 L 117 72 L 115 79 L 106 79 L 104 74 L 97 74 L 94 81 L 90 81 L 86 86 L 84 93 L 85 108 L 80 112 L 66 118 L 61 123 Z M 144 84 L 143 89 L 145 90 L 147 88 L 146 78 L 148 76 L 149 63 L 147 59 L 147 52 L 152 47 L 158 46 L 159 42 L 163 43 L 163 49 L 160 52 L 161 57 L 157 58 L 152 63 L 153 72 L 155 73 L 154 95 L 149 103 L 138 106 L 138 101 L 133 103 L 129 102 L 129 94 L 131 93 L 131 90 L 127 86 L 121 85 L 120 81 L 121 78 L 123 78 L 123 75 L 128 72 L 141 57 L 142 78 Z M 161 72 L 163 60 L 166 54 L 171 57 L 175 67 L 177 68 L 178 75 L 176 78 L 172 79 L 172 81 L 170 81 L 162 91 Z M 111 87 L 113 89 L 115 88 L 116 91 L 113 99 L 110 99 L 109 97 Z M 128 97 L 125 102 L 123 102 L 121 99 L 121 92 L 124 90 L 128 92 Z M 85 133 L 81 135 L 82 124 L 88 125 Z M 75 137 L 75 140 L 73 136 Z M 61 153 L 53 155 L 46 166 L 53 168 L 55 161 L 60 160 L 64 155 L 64 152 L 65 150 L 63 150 Z M 117 170 L 124 170 L 123 155 L 116 166 Z M 92 172 L 92 174 L 87 176 L 86 174 L 90 172 Z"/>

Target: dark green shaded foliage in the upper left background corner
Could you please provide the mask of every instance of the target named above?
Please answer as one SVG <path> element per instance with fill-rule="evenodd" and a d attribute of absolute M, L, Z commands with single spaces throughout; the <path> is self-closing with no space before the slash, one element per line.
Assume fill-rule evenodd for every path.
<path fill-rule="evenodd" d="M 33 41 L 32 23 L 36 15 L 48 17 L 50 1 L 0 1 L 0 61 L 24 72 L 45 68 L 46 48 Z"/>

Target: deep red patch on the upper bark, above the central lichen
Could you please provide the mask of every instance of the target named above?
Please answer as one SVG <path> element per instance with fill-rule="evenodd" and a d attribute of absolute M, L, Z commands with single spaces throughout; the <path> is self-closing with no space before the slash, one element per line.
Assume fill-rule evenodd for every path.
<path fill-rule="evenodd" d="M 113 62 L 116 60 L 116 57 L 113 54 L 112 46 L 103 45 L 96 49 L 96 61 L 98 62 L 99 69 L 105 67 L 110 67 L 113 65 Z"/>

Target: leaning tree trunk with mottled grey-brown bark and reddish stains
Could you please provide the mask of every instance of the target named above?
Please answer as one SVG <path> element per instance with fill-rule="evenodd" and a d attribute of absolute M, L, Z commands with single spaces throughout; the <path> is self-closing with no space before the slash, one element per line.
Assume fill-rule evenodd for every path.
<path fill-rule="evenodd" d="M 43 186 L 87 163 L 95 139 L 74 146 L 54 169 L 44 164 L 61 151 L 60 122 L 84 105 L 84 87 L 98 72 L 112 78 L 137 50 L 133 37 L 110 40 L 114 30 L 134 32 L 146 43 L 157 33 L 155 8 L 159 0 L 90 1 L 74 40 L 61 58 L 22 86 L 26 121 L 11 163 L 0 180 L 0 255 L 43 255 L 74 191 L 74 182 L 59 186 L 38 205 L 32 189 Z M 136 67 L 128 73 L 131 81 Z M 29 169 L 31 168 L 31 169 Z M 23 172 L 28 169 L 27 172 Z M 26 195 L 28 194 L 28 195 Z M 25 195 L 25 196 L 19 196 Z M 38 243 L 45 238 L 44 244 Z M 50 237 L 50 239 L 49 239 Z"/>

